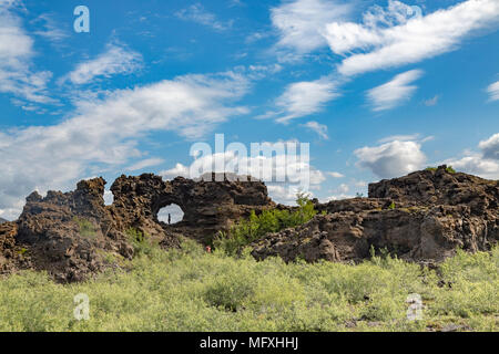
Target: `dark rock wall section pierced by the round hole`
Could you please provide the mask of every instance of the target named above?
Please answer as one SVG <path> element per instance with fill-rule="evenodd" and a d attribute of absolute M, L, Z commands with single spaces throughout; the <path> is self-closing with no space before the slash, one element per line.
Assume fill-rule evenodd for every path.
<path fill-rule="evenodd" d="M 120 229 L 134 227 L 147 235 L 164 231 L 182 233 L 200 241 L 210 241 L 220 230 L 230 226 L 252 210 L 274 207 L 267 188 L 261 181 L 192 180 L 177 177 L 163 181 L 154 175 L 118 178 L 111 187 L 114 202 L 113 219 Z M 184 212 L 183 220 L 167 226 L 157 220 L 163 207 L 175 204 Z"/>

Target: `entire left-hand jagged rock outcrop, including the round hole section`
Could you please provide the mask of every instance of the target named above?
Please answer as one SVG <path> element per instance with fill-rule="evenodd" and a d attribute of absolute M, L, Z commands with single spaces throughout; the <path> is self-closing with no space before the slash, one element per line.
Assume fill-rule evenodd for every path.
<path fill-rule="evenodd" d="M 274 207 L 261 181 L 121 176 L 111 187 L 111 206 L 104 205 L 104 185 L 103 178 L 94 178 L 70 192 L 49 191 L 44 198 L 31 194 L 19 219 L 0 226 L 2 272 L 34 268 L 48 270 L 60 282 L 81 281 L 112 266 L 110 256 L 133 257 L 126 232 L 131 228 L 165 248 L 176 247 L 180 233 L 203 241 L 251 210 Z M 171 204 L 185 214 L 175 226 L 157 220 L 160 209 Z"/>

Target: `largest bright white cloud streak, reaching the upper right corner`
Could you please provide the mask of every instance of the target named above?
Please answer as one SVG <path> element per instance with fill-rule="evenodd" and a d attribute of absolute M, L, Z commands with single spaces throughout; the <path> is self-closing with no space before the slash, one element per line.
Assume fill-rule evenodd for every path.
<path fill-rule="evenodd" d="M 390 0 L 386 11 L 375 7 L 360 24 L 328 23 L 324 35 L 333 52 L 347 55 L 338 71 L 354 75 L 452 51 L 466 37 L 496 27 L 498 19 L 497 0 L 468 0 L 427 15 Z"/>

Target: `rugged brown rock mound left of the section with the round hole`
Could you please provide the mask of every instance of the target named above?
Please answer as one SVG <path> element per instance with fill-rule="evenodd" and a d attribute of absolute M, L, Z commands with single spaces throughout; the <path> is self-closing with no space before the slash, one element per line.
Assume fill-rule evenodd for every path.
<path fill-rule="evenodd" d="M 104 206 L 102 178 L 82 180 L 71 192 L 32 192 L 19 217 L 17 242 L 23 244 L 35 269 L 58 281 L 81 281 L 102 270 L 109 253 L 130 258 L 123 230 L 113 228 Z"/>

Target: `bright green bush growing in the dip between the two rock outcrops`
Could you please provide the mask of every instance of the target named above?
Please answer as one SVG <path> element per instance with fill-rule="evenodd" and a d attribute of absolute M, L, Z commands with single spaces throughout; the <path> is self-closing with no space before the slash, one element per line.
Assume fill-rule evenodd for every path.
<path fill-rule="evenodd" d="M 218 232 L 213 241 L 213 246 L 223 249 L 228 254 L 236 254 L 241 250 L 259 240 L 268 232 L 277 232 L 286 228 L 297 227 L 309 221 L 316 214 L 314 204 L 305 194 L 298 194 L 296 197 L 298 208 L 296 211 L 268 209 L 256 215 L 252 211 L 249 219 L 243 219 L 234 225 L 226 232 Z"/>

